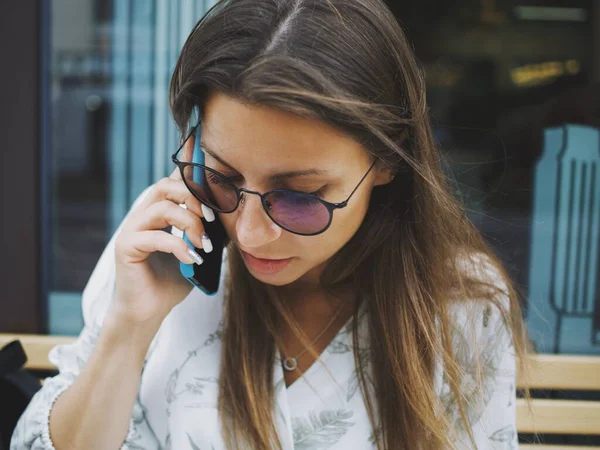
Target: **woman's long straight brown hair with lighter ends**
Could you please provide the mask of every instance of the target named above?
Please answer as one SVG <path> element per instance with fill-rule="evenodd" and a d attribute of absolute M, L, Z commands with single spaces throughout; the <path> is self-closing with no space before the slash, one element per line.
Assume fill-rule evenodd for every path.
<path fill-rule="evenodd" d="M 321 281 L 327 289 L 351 284 L 365 303 L 369 336 L 377 345 L 370 361 L 355 350 L 355 362 L 372 426 L 379 430 L 378 448 L 451 446 L 456 411 L 474 442 L 470 399 L 460 388 L 465 369 L 452 344 L 458 326 L 452 305 L 461 299 L 495 304 L 518 356 L 521 312 L 500 261 L 450 194 L 423 74 L 387 6 L 382 0 L 222 1 L 194 27 L 172 77 L 170 104 L 182 136 L 194 108 L 202 111 L 214 91 L 324 121 L 396 173 L 391 183 L 375 188 L 360 229 Z M 500 282 L 472 275 L 482 261 L 468 257 L 474 254 L 486 258 Z M 279 448 L 272 413 L 277 323 L 298 327 L 273 290 L 248 273 L 238 252 L 229 255 L 219 398 L 223 436 L 229 448 Z M 454 412 L 440 408 L 436 362 L 444 367 Z"/>

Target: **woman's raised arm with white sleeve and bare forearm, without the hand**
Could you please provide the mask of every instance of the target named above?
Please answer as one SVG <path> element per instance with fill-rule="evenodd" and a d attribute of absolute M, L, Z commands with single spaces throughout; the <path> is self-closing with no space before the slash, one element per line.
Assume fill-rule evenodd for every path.
<path fill-rule="evenodd" d="M 45 380 L 27 406 L 13 433 L 11 450 L 118 449 L 121 444 L 123 449 L 160 448 L 136 395 L 156 330 L 124 326 L 110 312 L 119 231 L 83 291 L 83 330 L 73 344 L 50 351 L 48 359 L 59 373 Z M 89 441 L 80 445 L 86 438 Z"/>

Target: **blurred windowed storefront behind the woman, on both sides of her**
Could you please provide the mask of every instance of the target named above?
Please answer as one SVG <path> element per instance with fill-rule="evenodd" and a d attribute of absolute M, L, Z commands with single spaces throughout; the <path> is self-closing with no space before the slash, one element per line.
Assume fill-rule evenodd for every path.
<path fill-rule="evenodd" d="M 135 197 L 172 170 L 167 106 L 201 0 L 0 2 L 0 332 L 75 335 Z M 600 1 L 389 6 L 456 195 L 544 352 L 600 354 Z"/>

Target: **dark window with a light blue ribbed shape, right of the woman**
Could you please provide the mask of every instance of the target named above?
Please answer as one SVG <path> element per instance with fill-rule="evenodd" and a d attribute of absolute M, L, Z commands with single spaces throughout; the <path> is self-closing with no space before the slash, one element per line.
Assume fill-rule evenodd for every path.
<path fill-rule="evenodd" d="M 473 222 L 543 352 L 600 354 L 600 6 L 390 1 Z M 595 8 L 595 9 L 594 9 Z"/>

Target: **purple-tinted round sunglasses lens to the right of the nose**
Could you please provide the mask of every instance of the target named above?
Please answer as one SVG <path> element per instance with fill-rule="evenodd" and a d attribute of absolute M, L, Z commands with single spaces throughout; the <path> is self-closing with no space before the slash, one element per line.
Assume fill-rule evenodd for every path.
<path fill-rule="evenodd" d="M 267 198 L 269 216 L 284 228 L 300 234 L 315 234 L 329 225 L 331 213 L 317 198 L 299 192 L 275 191 Z"/>

